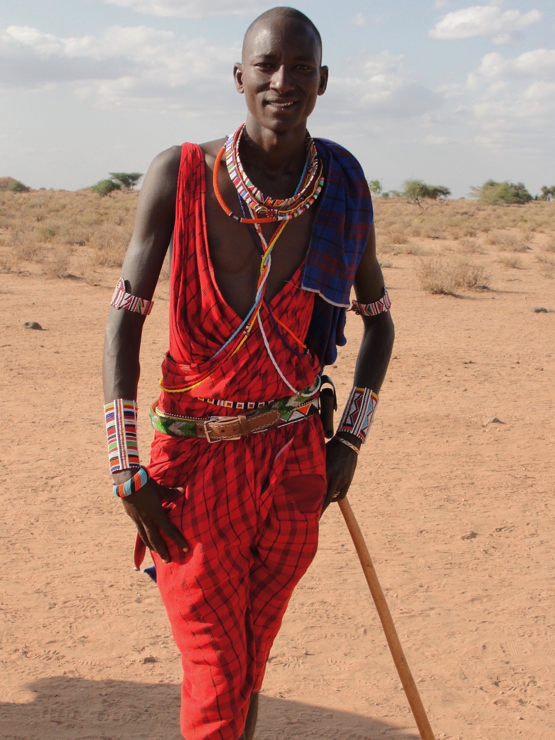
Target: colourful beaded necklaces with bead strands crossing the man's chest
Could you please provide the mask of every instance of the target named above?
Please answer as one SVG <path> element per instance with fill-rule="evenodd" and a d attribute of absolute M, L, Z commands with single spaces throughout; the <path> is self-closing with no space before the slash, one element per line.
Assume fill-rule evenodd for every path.
<path fill-rule="evenodd" d="M 297 390 L 289 383 L 283 372 L 280 370 L 280 367 L 277 365 L 275 357 L 270 350 L 268 338 L 266 337 L 266 332 L 264 332 L 263 323 L 260 320 L 260 310 L 263 307 L 266 308 L 266 311 L 269 313 L 273 323 L 275 323 L 276 326 L 279 324 L 286 330 L 286 332 L 291 334 L 297 344 L 306 351 L 306 346 L 297 339 L 294 334 L 292 334 L 285 324 L 281 323 L 274 317 L 268 303 L 264 300 L 264 293 L 266 292 L 266 280 L 268 279 L 270 267 L 272 266 L 272 249 L 274 248 L 277 239 L 280 237 L 281 232 L 285 229 L 287 223 L 291 221 L 292 218 L 295 218 L 309 209 L 309 207 L 312 206 L 312 203 L 316 201 L 318 195 L 320 195 L 324 184 L 323 167 L 318 162 L 314 141 L 312 141 L 312 138 L 307 133 L 306 144 L 308 151 L 306 163 L 295 195 L 293 195 L 292 198 L 269 198 L 268 196 L 263 195 L 263 193 L 252 184 L 249 178 L 246 177 L 243 166 L 240 164 L 239 141 L 243 134 L 244 127 L 245 124 L 242 124 L 235 131 L 233 136 L 228 136 L 226 138 L 226 145 L 221 148 L 220 152 L 218 152 L 218 156 L 216 157 L 214 164 L 213 185 L 216 198 L 218 198 L 218 203 L 220 203 L 224 212 L 239 223 L 246 223 L 249 226 L 254 226 L 256 233 L 258 234 L 258 238 L 260 239 L 262 259 L 260 262 L 260 277 L 258 278 L 255 303 L 240 323 L 238 329 L 233 332 L 232 336 L 229 337 L 226 343 L 224 343 L 212 356 L 212 360 L 215 360 L 218 357 L 218 365 L 214 369 L 204 372 L 201 377 L 195 380 L 194 383 L 191 383 L 185 388 L 166 388 L 162 385 L 162 380 L 160 380 L 161 388 L 163 388 L 167 393 L 183 393 L 184 391 L 191 391 L 193 388 L 200 386 L 201 383 L 203 383 L 204 380 L 207 380 L 217 369 L 219 369 L 226 360 L 233 357 L 233 355 L 239 351 L 249 337 L 249 334 L 251 334 L 255 323 L 258 323 L 260 332 L 262 333 L 264 346 L 266 347 L 266 351 L 268 351 L 270 360 L 272 360 L 277 373 L 280 375 L 286 386 L 288 386 L 288 388 L 290 388 L 294 393 L 297 393 Z M 247 218 L 246 215 L 243 215 L 243 218 L 234 215 L 231 209 L 226 206 L 225 201 L 223 201 L 218 185 L 218 172 L 224 153 L 227 153 L 227 169 L 229 177 L 232 179 L 232 182 L 238 191 L 241 211 L 243 211 L 244 214 L 245 209 L 247 209 L 251 218 Z M 262 215 L 261 218 L 258 214 Z M 280 223 L 272 235 L 272 238 L 266 241 L 260 224 L 275 223 L 276 221 L 279 221 Z M 285 341 L 283 334 L 281 334 L 281 332 L 279 332 L 279 334 Z"/>

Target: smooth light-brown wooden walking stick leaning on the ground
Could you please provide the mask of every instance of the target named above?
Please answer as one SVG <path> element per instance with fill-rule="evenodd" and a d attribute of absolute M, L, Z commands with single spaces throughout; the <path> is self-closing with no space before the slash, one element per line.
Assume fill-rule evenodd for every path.
<path fill-rule="evenodd" d="M 389 650 L 391 650 L 391 656 L 393 656 L 393 662 L 399 673 L 399 678 L 403 684 L 403 689 L 408 699 L 408 704 L 411 706 L 414 720 L 417 723 L 418 731 L 422 740 L 435 740 L 434 733 L 431 730 L 428 716 L 425 713 L 422 699 L 420 699 L 420 693 L 418 693 L 417 685 L 414 683 L 411 669 L 408 667 L 406 662 L 405 653 L 403 653 L 403 647 L 399 641 L 397 630 L 391 619 L 391 612 L 386 602 L 386 597 L 383 595 L 382 587 L 377 579 L 376 571 L 374 570 L 374 564 L 370 557 L 366 542 L 364 541 L 363 533 L 360 531 L 357 519 L 354 517 L 351 505 L 346 498 L 342 499 L 339 503 L 341 514 L 345 519 L 347 528 L 354 542 L 354 547 L 357 551 L 360 565 L 363 567 L 363 573 L 366 577 L 366 582 L 369 585 L 372 599 L 376 605 L 378 616 L 382 622 L 383 631 L 386 633 L 387 643 Z"/>

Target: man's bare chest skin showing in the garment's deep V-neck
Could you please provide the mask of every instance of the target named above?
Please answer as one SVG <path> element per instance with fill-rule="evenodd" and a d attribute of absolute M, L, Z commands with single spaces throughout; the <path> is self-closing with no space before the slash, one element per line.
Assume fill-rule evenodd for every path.
<path fill-rule="evenodd" d="M 260 277 L 260 239 L 254 228 L 237 223 L 221 208 L 206 173 L 206 231 L 215 279 L 224 300 L 244 318 L 255 300 Z M 235 215 L 242 215 L 237 192 L 227 173 L 219 180 L 221 195 Z M 266 300 L 272 300 L 303 263 L 309 248 L 314 221 L 314 206 L 286 223 L 272 249 L 272 266 L 266 280 Z M 262 225 L 269 241 L 278 223 Z"/>

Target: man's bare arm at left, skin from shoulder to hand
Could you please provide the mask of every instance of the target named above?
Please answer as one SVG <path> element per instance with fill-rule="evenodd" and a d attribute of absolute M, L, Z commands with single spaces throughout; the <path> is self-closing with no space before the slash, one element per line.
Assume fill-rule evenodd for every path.
<path fill-rule="evenodd" d="M 147 300 L 154 295 L 173 231 L 180 160 L 181 147 L 172 147 L 159 154 L 149 166 L 138 199 L 135 229 L 121 267 L 127 292 Z M 102 363 L 106 403 L 115 398 L 137 398 L 144 320 L 141 314 L 124 309 L 110 311 Z M 114 480 L 122 483 L 134 473 L 135 470 L 118 472 Z M 155 550 L 165 562 L 169 562 L 170 557 L 160 531 L 181 549 L 188 549 L 186 540 L 168 521 L 161 507 L 161 499 L 171 499 L 179 494 L 181 491 L 164 488 L 150 479 L 139 491 L 122 499 L 145 545 Z"/>

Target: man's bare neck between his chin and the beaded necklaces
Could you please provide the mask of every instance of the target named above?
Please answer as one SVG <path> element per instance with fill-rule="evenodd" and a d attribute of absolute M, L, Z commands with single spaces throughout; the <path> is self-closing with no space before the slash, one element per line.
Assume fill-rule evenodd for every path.
<path fill-rule="evenodd" d="M 295 129 L 275 132 L 266 129 L 249 115 L 240 143 L 243 165 L 263 169 L 269 174 L 297 171 L 306 159 L 306 121 Z"/>

